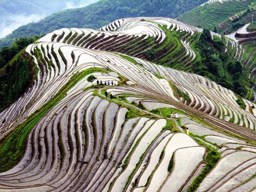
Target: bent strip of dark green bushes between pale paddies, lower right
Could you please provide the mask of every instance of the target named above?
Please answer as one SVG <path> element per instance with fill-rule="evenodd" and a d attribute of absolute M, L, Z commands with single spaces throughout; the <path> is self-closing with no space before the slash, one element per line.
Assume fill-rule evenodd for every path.
<path fill-rule="evenodd" d="M 195 140 L 197 140 L 197 143 L 199 145 L 202 145 L 206 148 L 206 155 L 204 156 L 204 162 L 206 163 L 206 166 L 204 166 L 202 172 L 194 179 L 192 184 L 189 185 L 189 187 L 187 188 L 187 192 L 196 191 L 206 175 L 210 172 L 210 170 L 213 169 L 213 167 L 218 163 L 219 159 L 221 158 L 221 155 L 215 148 L 206 145 L 206 143 L 201 142 L 197 138 L 195 138 Z"/>

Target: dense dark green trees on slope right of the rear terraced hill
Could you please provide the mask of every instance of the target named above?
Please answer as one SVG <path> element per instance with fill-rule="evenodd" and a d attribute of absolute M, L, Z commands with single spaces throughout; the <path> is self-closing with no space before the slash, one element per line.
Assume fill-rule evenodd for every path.
<path fill-rule="evenodd" d="M 233 55 L 225 53 L 224 41 L 215 37 L 212 40 L 210 32 L 204 29 L 200 39 L 195 44 L 200 58 L 193 64 L 193 72 L 215 81 L 219 85 L 246 97 L 249 88 L 254 83 L 248 78 L 249 71 L 242 68 Z"/>

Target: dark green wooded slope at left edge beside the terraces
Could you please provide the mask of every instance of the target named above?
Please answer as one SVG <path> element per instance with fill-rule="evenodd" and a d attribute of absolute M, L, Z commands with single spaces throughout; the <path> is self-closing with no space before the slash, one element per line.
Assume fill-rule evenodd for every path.
<path fill-rule="evenodd" d="M 0 112 L 17 100 L 33 81 L 34 62 L 25 47 L 37 37 L 20 38 L 0 50 Z"/>

